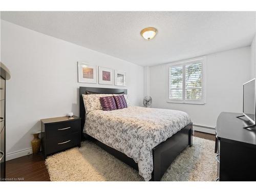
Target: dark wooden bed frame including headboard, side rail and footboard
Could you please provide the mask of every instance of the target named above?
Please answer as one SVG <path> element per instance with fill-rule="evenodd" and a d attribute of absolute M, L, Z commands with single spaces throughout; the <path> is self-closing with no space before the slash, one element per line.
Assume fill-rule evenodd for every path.
<path fill-rule="evenodd" d="M 138 170 L 138 164 L 130 157 L 115 150 L 114 148 L 105 145 L 97 139 L 84 134 L 83 126 L 86 121 L 86 110 L 84 108 L 82 94 L 127 94 L 126 89 L 110 89 L 110 88 L 91 88 L 91 87 L 80 87 L 79 98 L 80 98 L 80 118 L 81 118 L 81 140 L 90 139 L 95 144 L 99 145 L 106 152 L 109 152 L 119 160 L 130 165 L 131 167 Z M 160 181 L 163 174 L 173 160 L 187 147 L 193 145 L 193 124 L 189 123 L 179 132 L 166 141 L 160 143 L 153 148 L 153 164 L 154 169 L 152 172 L 151 181 Z"/>

